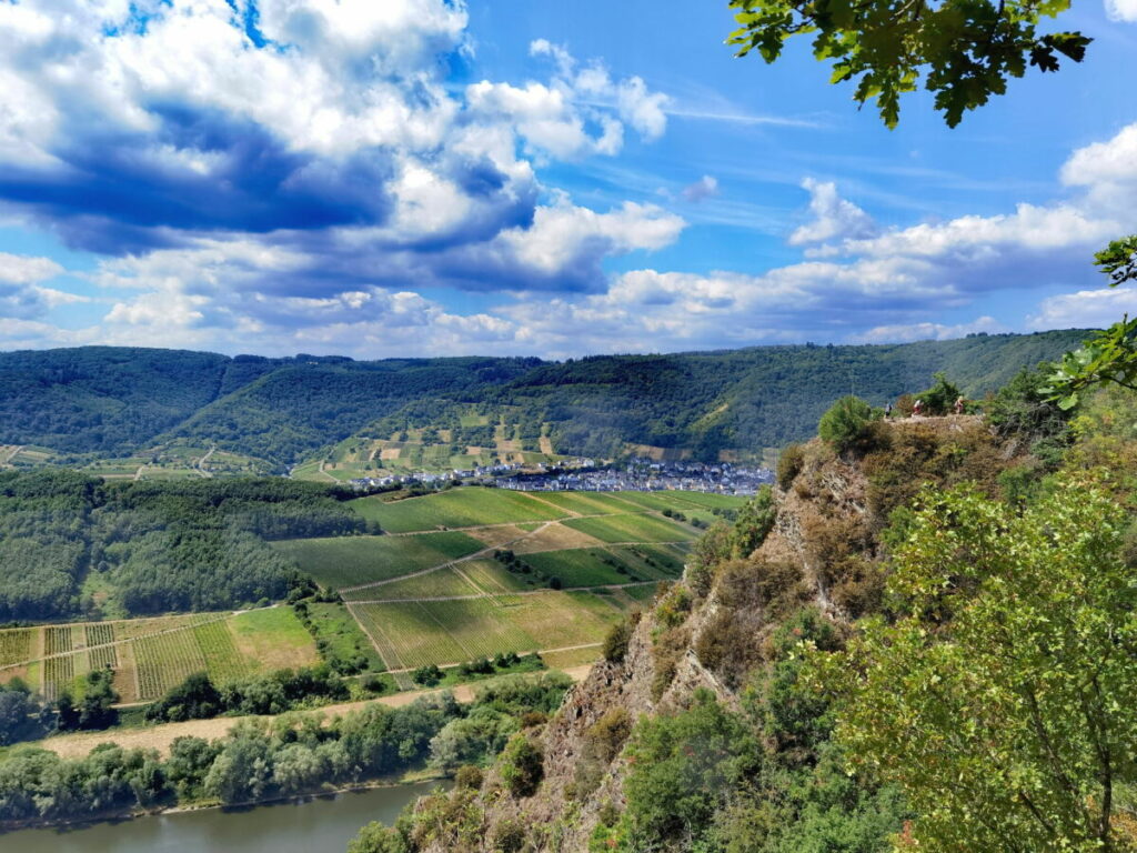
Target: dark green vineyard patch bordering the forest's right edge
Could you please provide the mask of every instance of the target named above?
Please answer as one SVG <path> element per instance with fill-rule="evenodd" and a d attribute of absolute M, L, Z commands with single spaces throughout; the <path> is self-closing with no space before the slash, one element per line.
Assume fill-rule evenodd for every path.
<path fill-rule="evenodd" d="M 340 589 L 430 569 L 484 546 L 465 533 L 451 532 L 288 539 L 273 543 L 273 547 L 292 557 L 321 586 Z"/>

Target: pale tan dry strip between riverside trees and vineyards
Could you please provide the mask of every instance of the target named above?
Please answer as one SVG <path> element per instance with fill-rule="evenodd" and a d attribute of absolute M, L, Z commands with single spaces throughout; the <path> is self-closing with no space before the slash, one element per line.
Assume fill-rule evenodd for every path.
<path fill-rule="evenodd" d="M 582 681 L 591 671 L 591 664 L 584 666 L 573 666 L 565 672 L 574 680 Z M 377 699 L 366 702 L 346 702 L 339 705 L 329 705 L 319 709 L 325 718 L 342 717 L 351 711 L 358 711 L 368 705 L 387 705 L 388 707 L 402 707 L 409 705 L 415 699 L 430 694 L 442 693 L 442 690 L 410 690 L 399 693 L 395 696 L 383 696 Z M 474 701 L 474 686 L 460 685 L 451 693 L 458 702 Z M 313 712 L 315 713 L 315 712 Z M 231 728 L 243 720 L 271 720 L 271 717 L 218 717 L 214 720 L 190 720 L 188 722 L 167 722 L 161 726 L 151 726 L 140 729 L 122 729 L 118 731 L 92 731 L 82 735 L 63 735 L 41 740 L 36 746 L 50 750 L 65 759 L 81 759 L 91 752 L 99 744 L 116 743 L 124 748 L 142 747 L 146 750 L 157 750 L 163 755 L 169 754 L 171 744 L 179 737 L 200 737 L 213 740 L 224 737 Z"/>

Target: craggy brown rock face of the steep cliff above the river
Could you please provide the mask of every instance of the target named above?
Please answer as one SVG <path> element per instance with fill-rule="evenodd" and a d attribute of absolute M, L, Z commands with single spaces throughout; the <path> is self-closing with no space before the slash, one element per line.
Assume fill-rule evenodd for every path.
<path fill-rule="evenodd" d="M 974 479 L 978 469 L 991 480 L 1016 461 L 1014 449 L 1007 453 L 976 417 L 881 424 L 878 441 L 877 449 L 847 457 L 818 440 L 805 445 L 792 481 L 785 490 L 775 488 L 777 517 L 758 549 L 721 566 L 709 593 L 690 597 L 689 611 L 678 623 L 674 608 L 661 602 L 686 590 L 687 578 L 675 589 L 661 591 L 636 626 L 624 660 L 597 665 L 570 690 L 548 723 L 530 730 L 545 756 L 537 793 L 513 797 L 503 789 L 499 773 L 490 771 L 476 798 L 484 831 L 473 846 L 460 850 L 587 851 L 603 811 L 621 806 L 626 770 L 616 755 L 601 768 L 598 785 L 594 779 L 595 788 L 580 788 L 589 732 L 598 722 L 620 710 L 632 721 L 667 713 L 699 688 L 737 705 L 741 677 L 761 664 L 762 644 L 787 607 L 812 603 L 845 622 L 870 606 L 882 578 L 878 535 L 898 497 L 911 498 L 926 481 L 945 486 Z M 724 649 L 723 635 L 731 638 Z M 740 652 L 733 638 L 752 651 Z M 720 647 L 712 654 L 714 640 Z M 523 828 L 520 846 L 495 840 L 504 825 Z M 459 847 L 440 844 L 429 850 Z"/>

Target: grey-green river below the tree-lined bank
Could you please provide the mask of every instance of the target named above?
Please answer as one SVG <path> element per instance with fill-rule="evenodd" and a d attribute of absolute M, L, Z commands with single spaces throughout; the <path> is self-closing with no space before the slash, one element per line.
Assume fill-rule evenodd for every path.
<path fill-rule="evenodd" d="M 372 788 L 255 809 L 192 812 L 0 835 L 14 853 L 343 853 L 359 827 L 390 823 L 437 782 Z"/>

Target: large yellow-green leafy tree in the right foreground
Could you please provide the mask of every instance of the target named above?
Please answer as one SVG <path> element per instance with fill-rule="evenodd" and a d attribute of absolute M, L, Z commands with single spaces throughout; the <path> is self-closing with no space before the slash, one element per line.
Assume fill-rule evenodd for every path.
<path fill-rule="evenodd" d="M 921 850 L 1123 848 L 1115 792 L 1137 780 L 1124 512 L 1070 478 L 1021 512 L 972 487 L 923 502 L 895 554 L 895 620 L 813 655 L 838 743 L 903 789 Z"/>

